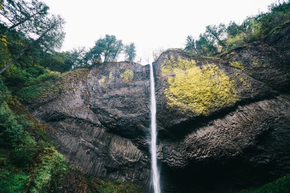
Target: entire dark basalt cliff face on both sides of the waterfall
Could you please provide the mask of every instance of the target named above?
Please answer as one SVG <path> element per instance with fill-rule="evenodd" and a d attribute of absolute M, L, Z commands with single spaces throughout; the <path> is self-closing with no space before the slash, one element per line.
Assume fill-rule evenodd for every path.
<path fill-rule="evenodd" d="M 153 63 L 163 192 L 237 192 L 290 173 L 290 26 L 219 58 Z M 60 153 L 98 178 L 150 191 L 149 66 L 109 62 L 26 101 Z"/>

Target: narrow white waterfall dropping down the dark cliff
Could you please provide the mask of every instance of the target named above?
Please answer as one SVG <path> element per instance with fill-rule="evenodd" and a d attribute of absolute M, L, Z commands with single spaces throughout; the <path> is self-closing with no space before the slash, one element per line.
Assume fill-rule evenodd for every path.
<path fill-rule="evenodd" d="M 151 89 L 151 169 L 154 193 L 160 193 L 159 172 L 157 168 L 156 155 L 156 100 L 153 66 L 150 64 L 150 89 Z"/>

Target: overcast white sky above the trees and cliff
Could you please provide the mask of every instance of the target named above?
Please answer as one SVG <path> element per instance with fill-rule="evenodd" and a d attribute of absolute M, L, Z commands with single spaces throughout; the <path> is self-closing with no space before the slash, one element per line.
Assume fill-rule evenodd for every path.
<path fill-rule="evenodd" d="M 184 48 L 187 35 L 197 37 L 209 24 L 241 23 L 258 10 L 267 11 L 267 5 L 274 1 L 43 0 L 50 12 L 66 20 L 63 51 L 92 47 L 101 36 L 110 34 L 124 44 L 134 42 L 138 58 L 159 47 Z M 142 59 L 141 63 L 147 62 Z"/>

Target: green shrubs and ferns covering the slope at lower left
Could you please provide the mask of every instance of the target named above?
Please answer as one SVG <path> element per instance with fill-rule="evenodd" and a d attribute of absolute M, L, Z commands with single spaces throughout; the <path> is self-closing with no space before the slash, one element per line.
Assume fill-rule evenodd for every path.
<path fill-rule="evenodd" d="M 10 93 L 1 79 L 0 88 L 0 192 L 47 193 L 50 187 L 63 192 L 59 184 L 74 169 L 57 152 L 46 128 L 11 96 L 4 97 Z"/>

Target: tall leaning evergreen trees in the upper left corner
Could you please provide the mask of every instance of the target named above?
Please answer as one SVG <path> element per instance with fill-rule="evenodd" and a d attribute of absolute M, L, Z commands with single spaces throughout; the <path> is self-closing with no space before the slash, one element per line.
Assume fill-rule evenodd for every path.
<path fill-rule="evenodd" d="M 11 64 L 22 69 L 29 68 L 35 61 L 43 61 L 39 59 L 43 55 L 55 53 L 55 49 L 60 49 L 65 35 L 65 21 L 60 15 L 49 14 L 47 5 L 38 0 L 15 0 L 4 1 L 3 7 L 7 10 L 0 10 L 0 49 L 1 52 L 9 52 L 5 52 L 5 57 L 2 57 L 6 61 L 1 63 L 1 67 L 5 66 L 1 73 Z M 60 54 L 54 54 L 56 60 Z"/>

